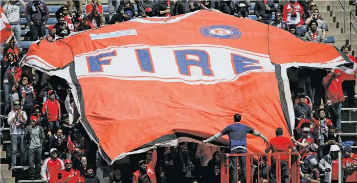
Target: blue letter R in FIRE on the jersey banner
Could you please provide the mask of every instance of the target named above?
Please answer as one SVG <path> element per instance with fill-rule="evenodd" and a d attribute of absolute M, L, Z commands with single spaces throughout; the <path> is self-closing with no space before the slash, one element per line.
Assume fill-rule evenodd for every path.
<path fill-rule="evenodd" d="M 214 76 L 211 69 L 210 57 L 204 50 L 188 49 L 173 51 L 178 66 L 178 72 L 182 75 L 191 76 L 190 66 L 197 66 L 202 69 L 202 75 Z M 188 57 L 191 57 L 188 58 Z M 192 59 L 197 58 L 197 59 Z"/>

